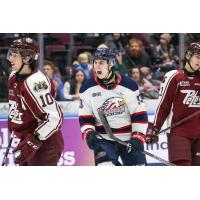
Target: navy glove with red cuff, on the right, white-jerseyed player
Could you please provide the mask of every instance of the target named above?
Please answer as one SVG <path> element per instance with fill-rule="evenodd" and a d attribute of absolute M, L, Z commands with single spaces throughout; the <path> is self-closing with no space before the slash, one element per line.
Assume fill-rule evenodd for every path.
<path fill-rule="evenodd" d="M 127 153 L 138 155 L 144 151 L 146 136 L 139 132 L 133 132 L 127 144 Z"/>

